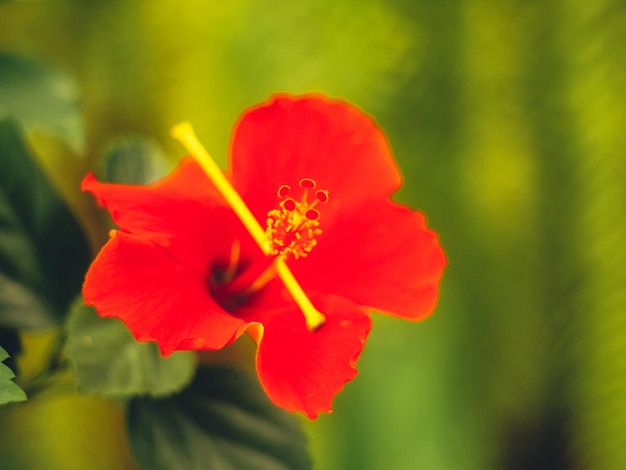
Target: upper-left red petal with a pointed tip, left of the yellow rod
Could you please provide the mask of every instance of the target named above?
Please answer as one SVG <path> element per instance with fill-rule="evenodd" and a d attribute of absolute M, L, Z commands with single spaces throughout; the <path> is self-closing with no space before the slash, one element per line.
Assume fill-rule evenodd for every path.
<path fill-rule="evenodd" d="M 189 157 L 155 184 L 101 183 L 89 174 L 82 189 L 91 192 L 124 231 L 167 248 L 195 269 L 208 270 L 212 254 L 227 255 L 234 238 L 252 244 L 232 210 Z"/>

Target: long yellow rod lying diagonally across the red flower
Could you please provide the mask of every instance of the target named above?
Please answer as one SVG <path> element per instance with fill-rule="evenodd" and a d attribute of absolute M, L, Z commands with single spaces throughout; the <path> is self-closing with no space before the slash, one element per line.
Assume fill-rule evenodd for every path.
<path fill-rule="evenodd" d="M 232 187 L 228 179 L 224 176 L 220 167 L 217 166 L 204 146 L 200 143 L 191 124 L 188 122 L 177 124 L 172 128 L 171 133 L 200 164 L 222 197 L 233 209 L 237 217 L 239 217 L 239 220 L 241 220 L 261 251 L 265 255 L 270 256 L 272 253 L 265 235 L 265 230 L 259 225 L 248 206 L 246 206 L 246 203 L 241 199 L 241 196 L 235 191 L 235 188 Z M 304 290 L 302 290 L 302 287 L 285 263 L 285 260 L 279 256 L 274 260 L 274 265 L 276 273 L 283 281 L 283 284 L 298 307 L 300 307 L 300 310 L 302 310 L 307 328 L 310 331 L 315 331 L 324 324 L 326 318 L 313 306 L 311 300 L 307 297 Z"/>

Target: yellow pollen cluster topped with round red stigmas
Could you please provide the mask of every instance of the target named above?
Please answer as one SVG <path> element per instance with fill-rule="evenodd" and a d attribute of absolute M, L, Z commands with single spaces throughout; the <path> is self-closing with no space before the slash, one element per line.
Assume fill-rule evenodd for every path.
<path fill-rule="evenodd" d="M 271 254 L 291 254 L 295 259 L 304 258 L 317 245 L 316 237 L 321 235 L 322 229 L 320 212 L 315 206 L 328 202 L 328 191 L 314 191 L 316 185 L 315 180 L 302 178 L 298 183 L 301 188 L 299 199 L 291 196 L 291 186 L 283 184 L 278 188 L 277 194 L 282 200 L 278 209 L 267 213 L 265 229 Z M 313 197 L 309 200 L 311 194 Z"/>

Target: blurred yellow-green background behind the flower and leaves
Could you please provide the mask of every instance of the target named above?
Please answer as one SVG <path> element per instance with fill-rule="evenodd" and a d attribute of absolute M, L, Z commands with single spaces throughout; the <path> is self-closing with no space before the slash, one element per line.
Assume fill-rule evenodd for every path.
<path fill-rule="evenodd" d="M 82 90 L 87 159 L 39 145 L 85 220 L 120 135 L 173 159 L 190 120 L 225 164 L 246 106 L 312 90 L 386 130 L 449 267 L 305 423 L 320 470 L 626 469 L 625 44 L 621 0 L 0 2 L 0 51 Z"/>

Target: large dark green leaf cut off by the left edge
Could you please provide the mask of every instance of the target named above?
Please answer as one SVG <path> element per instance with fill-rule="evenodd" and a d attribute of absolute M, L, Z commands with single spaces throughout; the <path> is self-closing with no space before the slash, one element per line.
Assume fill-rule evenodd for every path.
<path fill-rule="evenodd" d="M 0 326 L 59 323 L 80 292 L 89 260 L 83 231 L 19 127 L 0 120 Z"/>

